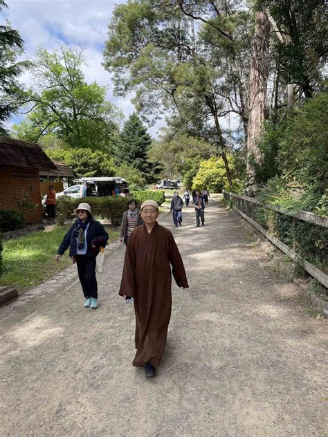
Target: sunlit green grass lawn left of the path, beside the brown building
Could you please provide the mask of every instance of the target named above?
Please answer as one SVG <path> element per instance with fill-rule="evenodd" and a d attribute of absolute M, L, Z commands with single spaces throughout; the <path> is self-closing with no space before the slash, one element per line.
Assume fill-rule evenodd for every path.
<path fill-rule="evenodd" d="M 53 277 L 71 264 L 68 250 L 59 263 L 58 246 L 69 227 L 55 227 L 51 232 L 33 232 L 3 243 L 3 275 L 0 286 L 32 287 Z M 109 241 L 118 239 L 118 229 L 106 227 Z"/>

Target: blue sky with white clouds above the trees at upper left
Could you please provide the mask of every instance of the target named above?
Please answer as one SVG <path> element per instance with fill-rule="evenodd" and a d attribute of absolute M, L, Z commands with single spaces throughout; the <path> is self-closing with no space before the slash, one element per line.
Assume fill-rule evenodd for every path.
<path fill-rule="evenodd" d="M 6 0 L 6 3 L 9 9 L 3 10 L 1 15 L 9 19 L 24 39 L 24 57 L 32 58 L 39 45 L 47 50 L 54 50 L 63 43 L 86 47 L 84 55 L 88 66 L 83 68 L 86 82 L 108 85 L 107 97 L 125 116 L 134 111 L 130 102 L 132 95 L 113 96 L 111 77 L 101 65 L 113 8 L 117 3 L 126 3 L 125 0 Z M 24 75 L 21 82 L 31 85 L 30 75 Z M 9 127 L 21 120 L 21 116 L 12 118 Z M 156 136 L 156 131 L 164 124 L 159 121 L 149 133 Z"/>

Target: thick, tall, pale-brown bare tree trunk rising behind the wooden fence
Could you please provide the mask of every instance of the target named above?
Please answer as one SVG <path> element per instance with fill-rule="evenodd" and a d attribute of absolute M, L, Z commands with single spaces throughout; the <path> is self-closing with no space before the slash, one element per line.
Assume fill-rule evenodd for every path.
<path fill-rule="evenodd" d="M 248 196 L 254 196 L 257 190 L 257 167 L 261 167 L 264 160 L 258 141 L 263 129 L 266 107 L 269 32 L 270 22 L 266 12 L 265 10 L 258 10 L 255 14 L 255 33 L 250 66 L 246 184 Z"/>

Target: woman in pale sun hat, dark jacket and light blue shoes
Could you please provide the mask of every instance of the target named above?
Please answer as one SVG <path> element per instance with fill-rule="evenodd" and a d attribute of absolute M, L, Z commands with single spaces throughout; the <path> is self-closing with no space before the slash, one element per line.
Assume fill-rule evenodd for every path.
<path fill-rule="evenodd" d="M 98 286 L 95 278 L 95 257 L 99 248 L 104 248 L 108 234 L 99 221 L 92 218 L 89 203 L 80 203 L 74 210 L 78 219 L 66 233 L 58 248 L 56 261 L 60 261 L 62 254 L 69 248 L 69 256 L 78 266 L 78 274 L 84 294 L 84 307 L 98 307 Z"/>

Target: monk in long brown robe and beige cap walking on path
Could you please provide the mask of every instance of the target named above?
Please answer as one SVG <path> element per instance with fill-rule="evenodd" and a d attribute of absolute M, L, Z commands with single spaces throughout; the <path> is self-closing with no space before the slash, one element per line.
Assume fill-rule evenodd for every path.
<path fill-rule="evenodd" d="M 119 294 L 134 297 L 136 313 L 136 367 L 155 376 L 164 352 L 172 306 L 172 273 L 176 285 L 188 288 L 185 268 L 170 230 L 158 225 L 158 205 L 141 205 L 144 224 L 130 234 Z"/>

